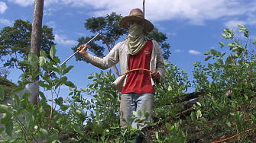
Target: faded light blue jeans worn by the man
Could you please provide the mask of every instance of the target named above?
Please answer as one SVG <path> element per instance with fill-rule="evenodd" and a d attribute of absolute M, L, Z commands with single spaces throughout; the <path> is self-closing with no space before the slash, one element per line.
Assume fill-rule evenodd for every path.
<path fill-rule="evenodd" d="M 130 118 L 133 115 L 133 112 L 140 110 L 141 112 L 149 113 L 149 117 L 147 122 L 151 121 L 151 112 L 153 106 L 154 94 L 146 93 L 146 94 L 136 94 L 136 93 L 129 93 L 129 94 L 122 94 L 121 103 L 120 103 L 120 124 L 122 127 L 127 127 L 127 123 L 131 123 L 131 127 L 137 129 L 137 125 L 139 129 L 144 128 L 146 125 L 144 122 L 137 123 L 131 121 Z M 138 117 L 138 116 L 137 116 Z M 139 117 L 138 117 L 139 118 Z"/>

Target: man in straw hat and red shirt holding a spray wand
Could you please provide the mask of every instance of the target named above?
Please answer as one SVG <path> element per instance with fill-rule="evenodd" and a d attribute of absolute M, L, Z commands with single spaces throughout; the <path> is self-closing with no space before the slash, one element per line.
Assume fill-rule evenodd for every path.
<path fill-rule="evenodd" d="M 164 77 L 164 59 L 160 46 L 155 40 L 147 40 L 154 25 L 144 18 L 139 8 L 132 9 L 130 14 L 122 17 L 120 27 L 128 29 L 128 37 L 118 43 L 107 56 L 100 59 L 86 52 L 87 45 L 79 46 L 79 54 L 83 55 L 88 62 L 96 67 L 107 69 L 120 62 L 121 73 L 124 74 L 132 69 L 143 68 L 122 75 L 113 83 L 122 93 L 120 103 L 120 122 L 122 127 L 131 123 L 133 128 L 143 129 L 146 125 L 131 122 L 133 111 L 147 112 L 150 114 L 147 122 L 151 121 L 151 112 L 154 100 L 154 84 Z M 149 72 L 148 70 L 152 71 Z M 120 88 L 118 87 L 120 86 Z M 142 142 L 142 135 L 136 137 L 136 142 Z"/>

